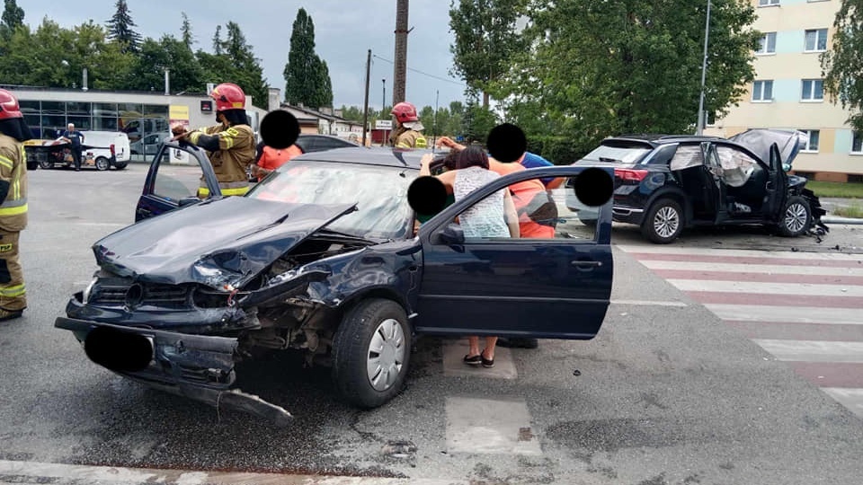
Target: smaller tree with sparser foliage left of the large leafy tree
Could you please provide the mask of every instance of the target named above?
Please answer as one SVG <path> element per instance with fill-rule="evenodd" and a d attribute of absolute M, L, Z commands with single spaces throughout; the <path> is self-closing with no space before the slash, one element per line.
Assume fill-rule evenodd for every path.
<path fill-rule="evenodd" d="M 509 71 L 512 54 L 526 48 L 516 22 L 527 0 L 455 0 L 449 4 L 449 29 L 456 43 L 449 47 L 455 74 L 483 93 L 488 106 L 491 83 Z"/>

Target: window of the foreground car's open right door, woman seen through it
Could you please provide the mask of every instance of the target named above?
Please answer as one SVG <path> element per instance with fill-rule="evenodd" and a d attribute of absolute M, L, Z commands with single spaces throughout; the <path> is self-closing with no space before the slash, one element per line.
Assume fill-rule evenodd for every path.
<path fill-rule="evenodd" d="M 545 181 L 549 182 L 549 181 Z M 595 242 L 601 207 L 585 206 L 569 180 L 547 189 L 541 179 L 529 179 L 506 188 L 512 199 L 506 210 L 503 190 L 467 207 L 439 231 L 443 243 L 512 242 L 545 239 L 560 242 Z"/>

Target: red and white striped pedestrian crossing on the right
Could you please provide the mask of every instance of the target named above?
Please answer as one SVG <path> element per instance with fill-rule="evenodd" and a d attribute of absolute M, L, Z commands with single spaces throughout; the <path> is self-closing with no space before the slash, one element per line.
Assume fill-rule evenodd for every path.
<path fill-rule="evenodd" d="M 863 418 L 863 254 L 617 247 Z"/>

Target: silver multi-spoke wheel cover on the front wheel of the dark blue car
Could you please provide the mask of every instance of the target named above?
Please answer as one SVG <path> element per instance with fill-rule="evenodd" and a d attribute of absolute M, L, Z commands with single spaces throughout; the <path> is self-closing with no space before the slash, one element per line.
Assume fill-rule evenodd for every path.
<path fill-rule="evenodd" d="M 396 384 L 405 364 L 407 344 L 402 325 L 395 319 L 380 322 L 369 342 L 367 372 L 369 383 L 377 391 L 386 391 Z"/>

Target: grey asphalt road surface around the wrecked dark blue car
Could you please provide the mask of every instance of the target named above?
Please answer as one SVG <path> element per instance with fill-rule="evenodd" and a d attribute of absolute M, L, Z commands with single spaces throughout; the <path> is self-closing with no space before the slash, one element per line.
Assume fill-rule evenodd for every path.
<path fill-rule="evenodd" d="M 22 234 L 30 307 L 0 323 L 0 465 L 477 484 L 810 485 L 863 476 L 863 419 L 624 251 L 615 251 L 615 303 L 596 339 L 502 350 L 509 357 L 499 357 L 496 376 L 453 365 L 461 342 L 423 339 L 405 392 L 378 410 L 337 401 L 324 369 L 290 357 L 240 375 L 245 391 L 296 416 L 289 428 L 130 383 L 93 365 L 53 323 L 93 274 L 91 244 L 132 221 L 145 172 L 131 164 L 30 174 Z M 645 243 L 634 228 L 614 237 Z M 746 229 L 688 233 L 676 245 L 853 252 L 857 244 L 847 226 L 821 242 Z M 516 430 L 509 446 L 501 427 Z M 4 470 L 0 482 L 38 482 L 36 472 Z"/>

